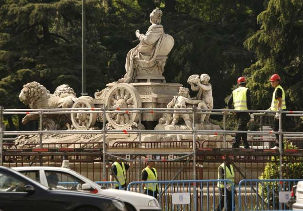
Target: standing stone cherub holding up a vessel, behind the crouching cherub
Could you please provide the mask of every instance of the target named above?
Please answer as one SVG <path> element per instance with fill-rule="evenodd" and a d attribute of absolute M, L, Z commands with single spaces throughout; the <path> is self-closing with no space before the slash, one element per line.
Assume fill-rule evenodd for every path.
<path fill-rule="evenodd" d="M 213 109 L 213 97 L 212 97 L 212 88 L 209 83 L 210 77 L 207 74 L 192 75 L 188 78 L 187 82 L 191 85 L 192 91 L 198 91 L 198 94 L 193 99 L 202 100 L 205 102 L 208 109 Z M 209 116 L 207 114 L 205 117 L 205 122 L 209 123 Z"/>

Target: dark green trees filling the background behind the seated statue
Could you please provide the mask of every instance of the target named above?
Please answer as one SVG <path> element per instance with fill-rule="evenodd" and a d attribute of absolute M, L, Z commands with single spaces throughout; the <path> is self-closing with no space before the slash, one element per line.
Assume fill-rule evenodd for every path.
<path fill-rule="evenodd" d="M 77 0 L 1 1 L 0 99 L 6 99 L 1 105 L 24 107 L 19 91 L 32 81 L 51 92 L 69 84 L 81 93 L 81 4 Z M 89 95 L 125 74 L 126 54 L 138 44 L 135 31 L 146 32 L 149 13 L 158 7 L 165 32 L 175 39 L 165 66 L 166 81 L 188 86 L 188 76 L 207 73 L 214 107 L 223 108 L 237 77 L 254 61 L 243 42 L 258 29 L 256 15 L 263 10 L 263 1 L 180 0 L 175 9 L 165 4 L 165 0 L 86 1 Z"/>

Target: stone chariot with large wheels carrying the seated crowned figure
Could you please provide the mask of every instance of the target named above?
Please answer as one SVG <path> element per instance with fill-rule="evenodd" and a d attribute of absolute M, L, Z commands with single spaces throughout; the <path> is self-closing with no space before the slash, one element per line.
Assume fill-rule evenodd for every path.
<path fill-rule="evenodd" d="M 80 97 L 72 108 L 166 108 L 173 96 L 178 94 L 181 84 L 166 83 L 163 77 L 167 55 L 174 46 L 172 36 L 165 34 L 160 25 L 162 12 L 155 9 L 150 14 L 151 26 L 146 34 L 136 31 L 140 43 L 131 49 L 126 57 L 124 78 L 107 84 L 107 88 L 95 93 L 95 98 Z M 141 121 L 158 122 L 162 114 L 142 113 Z M 75 128 L 85 130 L 93 127 L 96 121 L 106 118 L 110 129 L 134 128 L 139 114 L 131 112 L 74 113 L 72 122 Z M 150 129 L 153 129 L 150 128 Z"/>

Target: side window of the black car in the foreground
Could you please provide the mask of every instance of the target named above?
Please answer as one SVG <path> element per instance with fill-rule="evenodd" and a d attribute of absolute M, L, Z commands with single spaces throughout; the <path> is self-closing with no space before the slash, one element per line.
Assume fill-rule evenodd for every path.
<path fill-rule="evenodd" d="M 10 174 L 0 174 L 0 191 L 24 192 L 25 183 Z"/>

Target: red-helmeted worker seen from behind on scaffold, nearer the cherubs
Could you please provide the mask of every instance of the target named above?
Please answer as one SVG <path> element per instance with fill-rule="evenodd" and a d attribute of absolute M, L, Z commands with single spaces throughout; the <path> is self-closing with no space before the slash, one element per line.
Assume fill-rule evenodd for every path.
<path fill-rule="evenodd" d="M 228 109 L 233 108 L 235 110 L 251 110 L 251 101 L 250 101 L 250 91 L 246 86 L 246 79 L 244 77 L 239 77 L 237 80 L 238 88 L 233 90 L 228 99 Z M 248 121 L 253 122 L 254 117 L 251 113 L 250 115 L 247 112 L 236 112 L 237 118 L 237 130 L 247 130 Z M 240 147 L 240 140 L 243 140 L 244 148 L 249 149 L 249 144 L 247 142 L 247 133 L 236 133 L 236 137 L 232 143 L 232 148 Z"/>

